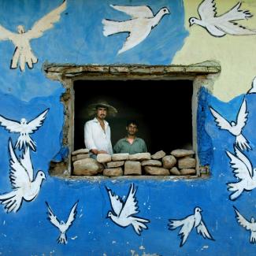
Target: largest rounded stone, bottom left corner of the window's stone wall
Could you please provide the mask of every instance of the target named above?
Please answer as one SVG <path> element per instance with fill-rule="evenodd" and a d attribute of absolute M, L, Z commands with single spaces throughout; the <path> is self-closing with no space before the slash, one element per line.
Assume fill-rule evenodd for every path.
<path fill-rule="evenodd" d="M 98 163 L 95 159 L 92 158 L 86 158 L 74 161 L 74 170 L 73 174 L 75 175 L 96 175 L 98 173 L 102 173 L 103 165 Z"/>

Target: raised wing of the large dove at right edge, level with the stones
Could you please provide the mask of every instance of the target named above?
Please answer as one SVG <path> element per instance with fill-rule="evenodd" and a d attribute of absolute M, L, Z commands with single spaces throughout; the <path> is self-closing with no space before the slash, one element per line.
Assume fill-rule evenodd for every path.
<path fill-rule="evenodd" d="M 240 180 L 251 180 L 251 173 L 253 172 L 251 169 L 248 169 L 249 166 L 247 166 L 241 159 L 237 158 L 232 153 L 226 151 L 226 154 L 228 154 L 228 158 L 230 158 L 230 166 L 233 169 L 233 173 L 236 176 L 236 178 L 239 178 Z M 241 153 L 242 154 L 242 153 Z"/>

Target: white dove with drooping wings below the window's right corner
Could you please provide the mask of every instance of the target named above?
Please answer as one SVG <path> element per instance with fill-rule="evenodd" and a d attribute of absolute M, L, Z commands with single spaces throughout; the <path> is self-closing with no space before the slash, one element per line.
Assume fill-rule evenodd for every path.
<path fill-rule="evenodd" d="M 170 219 L 169 230 L 173 230 L 180 227 L 179 236 L 181 236 L 180 247 L 184 246 L 187 238 L 193 228 L 196 228 L 198 234 L 202 235 L 204 239 L 213 240 L 213 237 L 210 235 L 210 232 L 207 230 L 206 225 L 202 221 L 201 208 L 195 207 L 194 214 L 191 214 L 181 220 L 172 220 Z"/>

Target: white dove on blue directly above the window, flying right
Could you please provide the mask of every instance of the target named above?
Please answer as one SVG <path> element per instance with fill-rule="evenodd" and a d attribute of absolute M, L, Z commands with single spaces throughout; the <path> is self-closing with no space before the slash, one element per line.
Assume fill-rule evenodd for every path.
<path fill-rule="evenodd" d="M 166 7 L 161 8 L 158 13 L 154 15 L 150 6 L 110 6 L 132 17 L 130 20 L 124 21 L 102 20 L 103 35 L 108 36 L 117 33 L 128 33 L 128 37 L 121 50 L 118 51 L 118 54 L 124 53 L 124 51 L 130 50 L 143 42 L 143 40 L 150 35 L 151 30 L 159 24 L 161 18 L 164 17 L 165 14 L 169 14 L 169 9 Z"/>

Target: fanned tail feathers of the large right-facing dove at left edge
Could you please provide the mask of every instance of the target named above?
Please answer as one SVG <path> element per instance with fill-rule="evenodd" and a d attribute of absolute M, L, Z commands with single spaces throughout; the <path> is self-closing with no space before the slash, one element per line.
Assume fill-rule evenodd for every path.
<path fill-rule="evenodd" d="M 11 191 L 5 195 L 0 195 L 0 201 L 2 205 L 5 205 L 5 210 L 7 213 L 16 213 L 21 206 L 22 198 L 17 195 L 17 191 Z"/>

